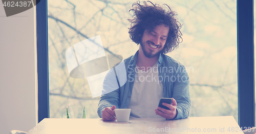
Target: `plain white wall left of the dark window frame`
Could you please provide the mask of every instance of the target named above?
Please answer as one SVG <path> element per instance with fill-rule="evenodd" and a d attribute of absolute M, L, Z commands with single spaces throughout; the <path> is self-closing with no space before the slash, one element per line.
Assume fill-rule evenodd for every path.
<path fill-rule="evenodd" d="M 0 133 L 36 125 L 33 8 L 6 17 L 0 4 Z"/>

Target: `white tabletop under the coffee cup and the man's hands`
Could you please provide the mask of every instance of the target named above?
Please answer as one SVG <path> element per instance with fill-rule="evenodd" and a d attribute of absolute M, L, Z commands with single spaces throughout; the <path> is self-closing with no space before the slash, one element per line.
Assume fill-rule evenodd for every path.
<path fill-rule="evenodd" d="M 200 131 L 200 132 L 199 132 Z M 236 132 L 237 131 L 237 132 Z M 129 122 L 101 119 L 46 118 L 28 131 L 30 133 L 243 133 L 233 116 L 189 117 L 169 120 L 162 118 L 130 118 Z"/>

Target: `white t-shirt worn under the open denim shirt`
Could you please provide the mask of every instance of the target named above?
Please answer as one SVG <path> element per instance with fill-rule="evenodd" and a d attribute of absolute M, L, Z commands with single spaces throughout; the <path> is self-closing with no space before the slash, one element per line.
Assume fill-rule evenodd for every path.
<path fill-rule="evenodd" d="M 163 97 L 163 85 L 158 79 L 158 64 L 146 72 L 135 68 L 135 80 L 128 106 L 131 117 L 135 118 L 163 118 L 156 115 L 159 100 Z"/>

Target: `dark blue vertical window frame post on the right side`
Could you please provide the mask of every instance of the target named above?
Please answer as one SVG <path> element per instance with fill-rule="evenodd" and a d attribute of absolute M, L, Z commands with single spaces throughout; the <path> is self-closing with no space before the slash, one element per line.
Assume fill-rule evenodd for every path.
<path fill-rule="evenodd" d="M 253 0 L 237 0 L 238 123 L 255 127 Z"/>

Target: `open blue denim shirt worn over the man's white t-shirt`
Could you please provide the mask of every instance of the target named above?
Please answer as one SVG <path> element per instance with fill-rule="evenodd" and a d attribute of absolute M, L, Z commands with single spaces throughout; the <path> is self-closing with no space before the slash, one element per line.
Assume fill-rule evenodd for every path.
<path fill-rule="evenodd" d="M 100 97 L 97 111 L 100 118 L 102 118 L 102 111 L 106 107 L 115 105 L 117 109 L 128 108 L 135 80 L 134 69 L 136 67 L 137 55 L 138 51 L 134 56 L 124 60 L 127 75 L 126 83 L 117 90 Z M 191 100 L 189 95 L 189 77 L 186 68 L 181 63 L 161 53 L 158 59 L 158 72 L 159 80 L 163 85 L 163 97 L 173 97 L 177 101 L 178 115 L 175 119 L 187 118 L 191 110 Z M 106 78 L 108 78 L 108 74 L 106 74 Z"/>

